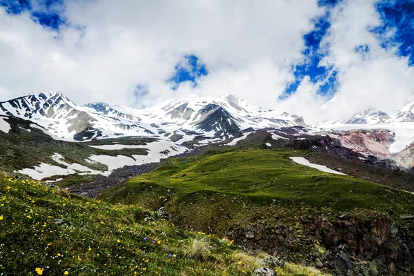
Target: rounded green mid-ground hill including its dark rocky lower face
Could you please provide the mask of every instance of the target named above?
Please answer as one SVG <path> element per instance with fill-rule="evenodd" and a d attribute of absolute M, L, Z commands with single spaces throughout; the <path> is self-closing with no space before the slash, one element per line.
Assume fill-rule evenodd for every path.
<path fill-rule="evenodd" d="M 406 262 L 406 257 L 386 256 L 390 251 L 381 239 L 396 251 L 403 252 L 406 245 L 399 240 L 410 244 L 414 223 L 406 217 L 414 214 L 414 195 L 289 159 L 306 153 L 233 148 L 168 159 L 156 170 L 104 191 L 101 199 L 152 210 L 165 206 L 181 228 L 227 235 L 269 253 L 277 250 L 294 262 L 315 265 L 322 259 L 333 269 L 344 251 L 354 255 L 358 273 L 384 262 L 393 267 Z M 374 245 L 364 244 L 367 237 Z"/>

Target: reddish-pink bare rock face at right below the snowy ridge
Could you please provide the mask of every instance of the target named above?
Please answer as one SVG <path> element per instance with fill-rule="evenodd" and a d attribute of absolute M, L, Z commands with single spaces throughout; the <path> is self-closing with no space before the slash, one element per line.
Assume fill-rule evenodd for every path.
<path fill-rule="evenodd" d="M 390 146 L 395 134 L 389 130 L 347 130 L 333 131 L 328 135 L 339 139 L 341 146 L 363 155 L 373 155 L 380 159 L 390 157 Z"/>

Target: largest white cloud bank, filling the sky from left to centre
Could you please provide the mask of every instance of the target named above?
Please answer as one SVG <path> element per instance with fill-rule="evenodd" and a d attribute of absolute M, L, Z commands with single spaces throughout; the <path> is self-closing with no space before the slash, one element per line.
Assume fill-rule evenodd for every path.
<path fill-rule="evenodd" d="M 134 103 L 174 97 L 166 79 L 182 55 L 195 54 L 208 68 L 194 92 L 233 93 L 257 104 L 275 102 L 301 59 L 302 35 L 322 14 L 317 1 L 70 1 L 72 26 L 55 33 L 0 9 L 0 92 L 19 95 L 60 90 L 77 103 Z M 257 97 L 257 96 L 260 97 Z M 271 106 L 271 104 L 270 104 Z"/>

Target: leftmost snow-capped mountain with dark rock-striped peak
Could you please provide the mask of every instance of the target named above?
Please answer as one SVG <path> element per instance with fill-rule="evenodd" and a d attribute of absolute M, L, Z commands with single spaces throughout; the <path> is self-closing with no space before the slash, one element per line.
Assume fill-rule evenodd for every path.
<path fill-rule="evenodd" d="M 139 118 L 112 112 L 95 112 L 77 106 L 60 92 L 41 92 L 0 102 L 0 114 L 34 121 L 60 138 L 89 140 L 113 135 L 123 128 L 133 135 L 152 133 L 141 126 Z"/>

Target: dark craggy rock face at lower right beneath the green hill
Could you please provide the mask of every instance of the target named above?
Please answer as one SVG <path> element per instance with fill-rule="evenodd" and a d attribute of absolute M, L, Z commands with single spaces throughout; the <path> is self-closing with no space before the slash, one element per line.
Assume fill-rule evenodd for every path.
<path fill-rule="evenodd" d="M 301 228 L 261 221 L 230 226 L 226 235 L 252 250 L 328 268 L 337 275 L 413 275 L 413 237 L 386 217 L 333 219 L 299 217 Z M 320 246 L 319 246 L 320 244 Z M 368 274 L 367 274 L 368 273 Z"/>

